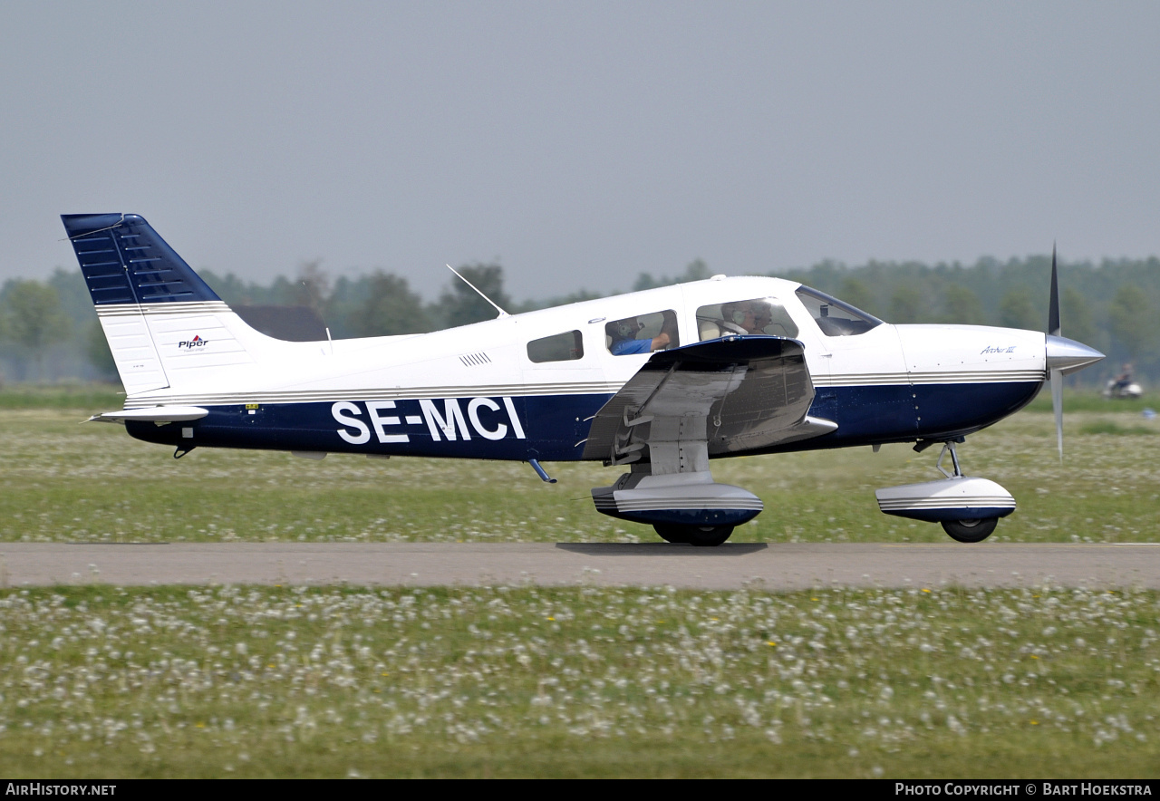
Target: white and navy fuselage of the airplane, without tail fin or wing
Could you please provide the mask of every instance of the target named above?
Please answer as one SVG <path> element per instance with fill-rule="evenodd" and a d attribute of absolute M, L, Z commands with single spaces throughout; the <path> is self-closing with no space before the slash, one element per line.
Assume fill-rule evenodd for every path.
<path fill-rule="evenodd" d="M 307 343 L 264 337 L 220 301 L 201 328 L 189 322 L 190 305 L 144 306 L 169 386 L 131 393 L 126 408 L 184 405 L 209 414 L 126 421 L 126 429 L 186 449 L 577 460 L 586 458 L 594 415 L 662 333 L 668 348 L 747 335 L 803 343 L 815 393 L 809 415 L 836 429 L 731 456 L 955 438 L 1017 410 L 1046 379 L 1042 333 L 894 326 L 869 315 L 865 330 L 843 333 L 833 325 L 848 322 L 838 316 L 842 307 L 799 290 L 809 292 L 778 278 L 723 277 L 430 334 Z M 738 306 L 759 300 L 775 318 L 766 329 L 726 328 L 730 315 L 744 320 Z M 182 318 L 168 335 L 167 315 Z M 639 326 L 628 349 L 640 352 L 614 352 L 625 344 L 614 327 L 624 320 Z M 247 356 L 255 337 L 273 357 Z"/>

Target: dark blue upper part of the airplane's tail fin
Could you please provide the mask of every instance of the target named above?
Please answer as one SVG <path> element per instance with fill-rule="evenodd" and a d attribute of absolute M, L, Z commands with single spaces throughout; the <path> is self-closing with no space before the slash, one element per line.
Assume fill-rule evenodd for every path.
<path fill-rule="evenodd" d="M 61 214 L 93 304 L 220 300 L 138 214 Z"/>

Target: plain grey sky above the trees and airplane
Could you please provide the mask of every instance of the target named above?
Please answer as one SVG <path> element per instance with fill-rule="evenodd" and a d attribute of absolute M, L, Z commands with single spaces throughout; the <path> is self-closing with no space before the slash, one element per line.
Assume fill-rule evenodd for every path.
<path fill-rule="evenodd" d="M 1160 253 L 1160 3 L 0 3 L 0 281 L 58 214 L 427 296 Z"/>

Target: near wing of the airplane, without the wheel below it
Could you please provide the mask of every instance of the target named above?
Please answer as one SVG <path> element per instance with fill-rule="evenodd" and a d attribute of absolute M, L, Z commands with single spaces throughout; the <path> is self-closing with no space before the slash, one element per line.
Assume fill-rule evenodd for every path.
<path fill-rule="evenodd" d="M 658 457 L 676 460 L 666 472 L 708 469 L 684 464 L 697 459 L 698 440 L 712 457 L 835 430 L 836 423 L 806 415 L 812 402 L 805 347 L 797 340 L 731 336 L 664 350 L 596 413 L 583 458 L 628 464 L 647 454 L 654 469 Z"/>

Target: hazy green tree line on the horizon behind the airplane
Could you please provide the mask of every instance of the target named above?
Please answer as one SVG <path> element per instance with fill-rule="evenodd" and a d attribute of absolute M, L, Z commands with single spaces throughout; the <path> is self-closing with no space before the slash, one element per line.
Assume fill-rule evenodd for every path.
<path fill-rule="evenodd" d="M 1047 319 L 1050 256 L 973 264 L 825 261 L 770 272 L 819 289 L 889 322 L 1006 326 L 1043 330 Z M 588 300 L 622 290 L 578 290 L 568 296 L 515 301 L 499 264 L 466 264 L 458 271 L 512 313 Z M 1064 336 L 1108 354 L 1096 370 L 1073 380 L 1102 381 L 1131 362 L 1138 376 L 1160 377 L 1160 258 L 1060 264 Z M 261 284 L 234 274 L 202 270 L 206 283 L 239 311 L 296 307 L 307 311 L 334 338 L 413 334 L 495 316 L 495 310 L 463 282 L 450 282 L 425 300 L 406 278 L 375 270 L 336 278 L 320 262 L 302 264 L 291 278 Z M 631 290 L 708 278 L 696 260 L 674 275 L 638 275 Z M 276 310 L 275 310 L 276 311 Z M 245 314 L 244 314 L 245 316 Z M 79 270 L 58 268 L 46 281 L 14 278 L 0 287 L 0 381 L 61 378 L 116 379 Z"/>

